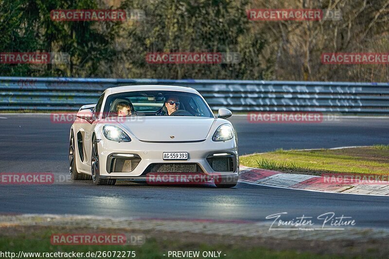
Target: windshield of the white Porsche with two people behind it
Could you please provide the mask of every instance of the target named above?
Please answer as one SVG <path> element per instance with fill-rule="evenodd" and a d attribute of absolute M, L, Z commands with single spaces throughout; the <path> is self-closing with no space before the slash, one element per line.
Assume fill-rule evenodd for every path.
<path fill-rule="evenodd" d="M 124 112 L 123 112 L 124 111 Z M 107 97 L 103 117 L 196 116 L 213 117 L 197 94 L 180 91 L 131 91 Z"/>

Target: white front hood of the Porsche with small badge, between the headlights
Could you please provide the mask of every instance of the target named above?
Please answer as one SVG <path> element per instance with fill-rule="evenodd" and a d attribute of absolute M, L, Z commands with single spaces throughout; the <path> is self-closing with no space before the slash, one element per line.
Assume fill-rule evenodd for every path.
<path fill-rule="evenodd" d="M 127 117 L 119 123 L 135 138 L 149 142 L 198 141 L 207 138 L 212 124 L 208 117 Z"/>

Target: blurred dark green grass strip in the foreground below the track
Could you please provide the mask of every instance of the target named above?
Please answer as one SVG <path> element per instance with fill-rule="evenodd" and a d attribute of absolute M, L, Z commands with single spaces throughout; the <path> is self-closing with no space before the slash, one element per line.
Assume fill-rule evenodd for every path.
<path fill-rule="evenodd" d="M 148 238 L 143 245 L 52 245 L 50 243 L 50 237 L 53 233 L 52 230 L 37 231 L 33 234 L 14 234 L 2 235 L 0 234 L 0 251 L 14 252 L 18 255 L 19 251 L 23 252 L 40 252 L 40 253 L 55 253 L 63 252 L 70 253 L 72 251 L 84 253 L 97 252 L 97 251 L 135 251 L 135 258 L 146 259 L 166 259 L 168 258 L 168 251 L 221 251 L 221 258 L 225 259 L 330 259 L 339 258 L 334 255 L 315 255 L 312 253 L 300 253 L 293 250 L 286 251 L 274 251 L 263 247 L 240 247 L 239 243 L 236 245 L 226 244 L 207 244 L 205 242 L 198 243 L 193 241 L 182 241 L 177 237 L 177 240 L 171 240 L 166 238 Z M 179 235 L 179 234 L 177 234 Z M 165 254 L 165 256 L 163 256 Z M 226 256 L 224 256 L 224 254 Z M 37 257 L 29 257 L 31 259 Z M 109 257 L 100 257 L 109 258 Z M 112 256 L 110 257 L 112 258 Z M 115 257 L 118 258 L 118 257 Z M 127 252 L 126 257 L 127 258 Z M 131 257 L 130 257 L 131 258 Z M 171 258 L 171 257 L 170 257 Z M 199 257 L 203 258 L 203 257 Z"/>

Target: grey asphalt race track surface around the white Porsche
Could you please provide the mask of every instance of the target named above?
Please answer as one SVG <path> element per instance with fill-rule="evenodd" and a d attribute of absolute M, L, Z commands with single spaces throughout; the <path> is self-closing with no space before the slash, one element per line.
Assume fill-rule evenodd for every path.
<path fill-rule="evenodd" d="M 68 173 L 70 124 L 48 115 L 2 114 L 0 172 Z M 315 124 L 248 123 L 230 119 L 241 154 L 277 148 L 332 148 L 389 143 L 389 119 L 337 119 Z M 326 212 L 352 217 L 358 227 L 389 228 L 389 197 L 307 192 L 239 183 L 236 188 L 211 185 L 161 187 L 122 182 L 113 187 L 91 181 L 64 180 L 53 185 L 0 185 L 0 213 L 87 214 L 109 217 L 247 220 L 269 222 Z"/>

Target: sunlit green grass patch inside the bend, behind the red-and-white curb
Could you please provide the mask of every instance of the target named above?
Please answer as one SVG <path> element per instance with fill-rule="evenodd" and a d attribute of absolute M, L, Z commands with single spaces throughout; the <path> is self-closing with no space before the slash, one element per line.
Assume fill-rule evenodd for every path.
<path fill-rule="evenodd" d="M 389 174 L 389 145 L 340 150 L 284 151 L 240 157 L 248 167 L 285 173 L 374 173 Z"/>

